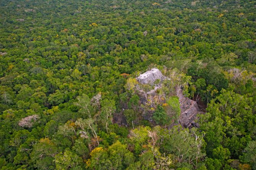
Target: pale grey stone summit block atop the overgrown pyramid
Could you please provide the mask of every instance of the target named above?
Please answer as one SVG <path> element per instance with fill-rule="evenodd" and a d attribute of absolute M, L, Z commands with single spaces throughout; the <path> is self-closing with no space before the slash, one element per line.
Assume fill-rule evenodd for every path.
<path fill-rule="evenodd" d="M 161 71 L 157 68 L 152 68 L 137 77 L 138 82 L 142 84 L 153 84 L 157 79 L 164 79 Z"/>

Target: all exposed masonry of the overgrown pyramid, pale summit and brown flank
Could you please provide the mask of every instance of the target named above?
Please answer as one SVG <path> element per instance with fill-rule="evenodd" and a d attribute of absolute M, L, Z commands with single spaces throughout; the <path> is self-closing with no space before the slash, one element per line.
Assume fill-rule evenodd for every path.
<path fill-rule="evenodd" d="M 136 79 L 139 83 L 153 85 L 157 79 L 160 79 L 160 81 L 164 80 L 165 76 L 163 76 L 161 71 L 158 70 L 157 68 L 152 68 L 151 70 L 146 71 L 145 73 L 139 75 Z M 154 89 L 147 92 L 147 94 L 154 94 L 159 88 L 161 88 L 161 84 L 157 84 L 154 87 Z M 194 100 L 191 100 L 188 97 L 185 97 L 181 89 L 177 90 L 177 97 L 179 98 L 180 110 L 181 110 L 178 122 L 183 127 L 187 127 L 187 128 L 191 128 L 193 126 L 197 127 L 198 125 L 194 123 L 194 120 L 196 119 L 196 115 L 198 113 L 202 113 L 199 110 L 198 104 Z"/>

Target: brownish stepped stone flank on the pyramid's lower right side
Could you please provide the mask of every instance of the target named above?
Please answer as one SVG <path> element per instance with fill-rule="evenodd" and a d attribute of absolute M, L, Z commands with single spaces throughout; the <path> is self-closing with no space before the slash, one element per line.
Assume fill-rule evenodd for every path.
<path fill-rule="evenodd" d="M 194 119 L 196 118 L 196 115 L 202 112 L 199 110 L 198 105 L 194 100 L 191 100 L 182 94 L 182 90 L 177 92 L 177 96 L 179 98 L 181 110 L 179 123 L 183 127 L 190 128 L 194 126 Z"/>

